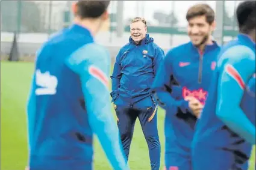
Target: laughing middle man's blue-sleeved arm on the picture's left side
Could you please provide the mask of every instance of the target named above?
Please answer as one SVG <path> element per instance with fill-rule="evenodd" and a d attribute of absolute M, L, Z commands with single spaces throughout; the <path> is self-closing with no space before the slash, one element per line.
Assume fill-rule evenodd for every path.
<path fill-rule="evenodd" d="M 121 50 L 119 51 L 119 53 L 116 56 L 116 62 L 114 62 L 114 70 L 111 77 L 112 80 L 112 92 L 110 93 L 110 96 L 112 97 L 112 102 L 114 102 L 114 100 L 116 100 L 117 97 L 117 90 L 120 87 L 120 79 L 121 79 L 121 63 L 120 63 L 120 57 L 122 55 Z"/>

